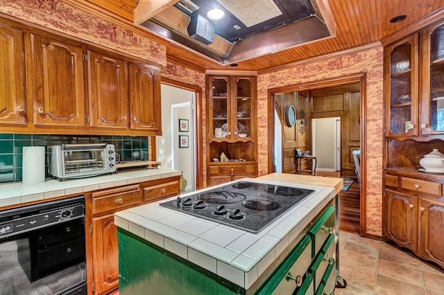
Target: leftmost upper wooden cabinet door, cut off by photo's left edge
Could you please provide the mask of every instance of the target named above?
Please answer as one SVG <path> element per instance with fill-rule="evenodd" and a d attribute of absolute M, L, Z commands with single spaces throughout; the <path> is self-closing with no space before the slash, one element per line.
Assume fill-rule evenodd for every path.
<path fill-rule="evenodd" d="M 26 124 L 24 34 L 0 26 L 0 123 Z"/>

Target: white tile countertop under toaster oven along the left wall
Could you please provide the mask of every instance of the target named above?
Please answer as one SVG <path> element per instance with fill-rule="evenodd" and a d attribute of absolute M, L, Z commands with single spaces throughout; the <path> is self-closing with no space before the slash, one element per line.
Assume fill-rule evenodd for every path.
<path fill-rule="evenodd" d="M 0 184 L 0 210 L 4 206 L 12 206 L 42 199 L 51 199 L 64 195 L 81 194 L 92 190 L 138 184 L 180 175 L 179 170 L 147 169 L 119 170 L 116 174 L 96 177 L 67 179 L 64 181 L 48 180 L 40 184 L 23 184 L 22 182 Z"/>

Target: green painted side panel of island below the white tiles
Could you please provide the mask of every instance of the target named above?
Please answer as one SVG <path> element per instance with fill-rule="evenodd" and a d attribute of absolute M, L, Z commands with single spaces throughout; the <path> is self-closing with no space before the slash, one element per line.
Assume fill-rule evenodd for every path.
<path fill-rule="evenodd" d="M 117 228 L 121 295 L 246 294 L 246 290 Z"/>

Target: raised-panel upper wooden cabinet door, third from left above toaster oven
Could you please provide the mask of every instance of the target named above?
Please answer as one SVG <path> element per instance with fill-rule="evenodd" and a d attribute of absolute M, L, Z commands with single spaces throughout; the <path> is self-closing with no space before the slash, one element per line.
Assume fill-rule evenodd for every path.
<path fill-rule="evenodd" d="M 126 62 L 89 51 L 88 78 L 90 126 L 128 128 Z"/>

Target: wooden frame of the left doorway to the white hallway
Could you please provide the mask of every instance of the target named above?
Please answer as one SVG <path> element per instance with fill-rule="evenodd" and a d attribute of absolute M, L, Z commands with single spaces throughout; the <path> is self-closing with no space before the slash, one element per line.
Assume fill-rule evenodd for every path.
<path fill-rule="evenodd" d="M 178 87 L 196 93 L 194 116 L 196 116 L 196 189 L 203 188 L 203 120 L 202 120 L 202 87 L 161 78 L 162 84 Z"/>

